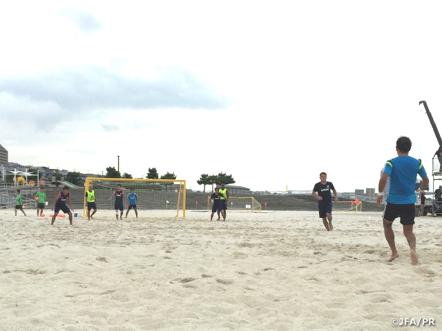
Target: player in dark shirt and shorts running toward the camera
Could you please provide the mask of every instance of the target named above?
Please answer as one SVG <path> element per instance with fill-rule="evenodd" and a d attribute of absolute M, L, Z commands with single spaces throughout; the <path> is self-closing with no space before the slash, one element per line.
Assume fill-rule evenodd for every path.
<path fill-rule="evenodd" d="M 323 219 L 323 223 L 327 231 L 333 230 L 332 224 L 332 193 L 334 194 L 334 202 L 338 202 L 338 194 L 332 182 L 327 181 L 327 174 L 321 172 L 319 174 L 320 182 L 316 183 L 311 196 L 318 199 L 319 217 Z M 316 194 L 316 192 L 318 194 Z"/>

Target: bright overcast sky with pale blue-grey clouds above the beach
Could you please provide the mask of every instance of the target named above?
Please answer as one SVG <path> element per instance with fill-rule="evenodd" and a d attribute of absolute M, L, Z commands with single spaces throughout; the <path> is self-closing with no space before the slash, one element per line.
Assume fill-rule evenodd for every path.
<path fill-rule="evenodd" d="M 9 161 L 202 190 L 376 188 L 442 132 L 439 1 L 0 1 Z M 438 183 L 439 185 L 439 183 Z"/>

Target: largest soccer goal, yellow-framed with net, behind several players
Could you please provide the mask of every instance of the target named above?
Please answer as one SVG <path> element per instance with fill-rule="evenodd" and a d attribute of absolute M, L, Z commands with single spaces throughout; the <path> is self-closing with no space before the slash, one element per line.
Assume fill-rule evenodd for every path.
<path fill-rule="evenodd" d="M 97 210 L 108 210 L 112 213 L 115 197 L 109 200 L 117 185 L 122 185 L 124 195 L 131 193 L 131 189 L 137 194 L 138 217 L 186 217 L 186 181 L 184 179 L 123 179 L 123 178 L 86 178 L 84 192 L 89 185 L 93 185 L 95 191 L 95 203 Z M 126 212 L 128 204 L 124 201 Z M 97 216 L 99 215 L 97 212 Z M 87 216 L 87 202 L 84 197 L 84 216 Z M 131 217 L 134 216 L 131 211 Z"/>

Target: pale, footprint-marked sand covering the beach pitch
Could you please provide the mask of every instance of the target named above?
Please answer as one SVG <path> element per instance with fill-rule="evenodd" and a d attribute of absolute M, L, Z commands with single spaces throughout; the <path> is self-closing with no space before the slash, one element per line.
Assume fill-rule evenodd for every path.
<path fill-rule="evenodd" d="M 390 330 L 392 318 L 442 328 L 441 218 L 416 218 L 412 266 L 398 221 L 401 257 L 387 263 L 381 213 L 336 212 L 332 232 L 317 212 L 224 223 L 99 211 L 73 226 L 27 213 L 0 211 L 3 330 Z"/>

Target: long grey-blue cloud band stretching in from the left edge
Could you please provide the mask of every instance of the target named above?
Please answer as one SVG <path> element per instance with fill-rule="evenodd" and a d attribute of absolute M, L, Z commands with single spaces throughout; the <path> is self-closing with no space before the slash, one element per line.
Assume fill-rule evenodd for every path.
<path fill-rule="evenodd" d="M 57 72 L 0 78 L 0 92 L 30 101 L 51 101 L 61 109 L 186 108 L 214 110 L 229 101 L 183 68 L 161 68 L 160 77 L 143 79 L 99 66 L 64 68 Z"/>

